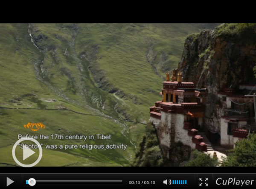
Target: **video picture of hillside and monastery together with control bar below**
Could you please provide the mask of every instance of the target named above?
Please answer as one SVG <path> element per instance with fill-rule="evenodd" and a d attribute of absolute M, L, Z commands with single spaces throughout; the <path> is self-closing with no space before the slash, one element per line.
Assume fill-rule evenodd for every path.
<path fill-rule="evenodd" d="M 255 44 L 254 23 L 0 24 L 1 188 L 255 187 Z"/>

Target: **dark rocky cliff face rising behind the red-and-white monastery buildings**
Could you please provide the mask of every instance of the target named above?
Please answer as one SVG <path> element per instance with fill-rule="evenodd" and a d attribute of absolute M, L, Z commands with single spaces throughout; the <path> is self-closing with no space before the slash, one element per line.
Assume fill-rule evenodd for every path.
<path fill-rule="evenodd" d="M 178 69 L 183 81 L 208 88 L 204 123 L 210 132 L 220 132 L 223 110 L 218 105 L 218 92 L 240 83 L 255 84 L 255 63 L 255 24 L 222 24 L 186 38 Z"/>

